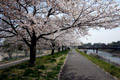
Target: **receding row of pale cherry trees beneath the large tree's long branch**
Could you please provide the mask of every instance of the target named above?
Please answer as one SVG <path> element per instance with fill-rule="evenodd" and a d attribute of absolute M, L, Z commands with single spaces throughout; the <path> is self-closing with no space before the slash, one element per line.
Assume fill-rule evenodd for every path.
<path fill-rule="evenodd" d="M 85 31 L 84 31 L 85 32 Z M 85 34 L 85 33 L 84 33 Z M 62 31 L 59 33 L 55 33 L 52 35 L 48 35 L 43 37 L 45 40 L 49 41 L 50 47 L 52 48 L 51 54 L 54 54 L 54 50 L 58 48 L 58 52 L 60 51 L 60 48 L 62 50 L 68 48 L 69 46 L 77 46 L 81 44 L 80 38 L 83 35 L 76 31 L 75 29 Z M 73 45 L 72 45 L 73 44 Z"/>

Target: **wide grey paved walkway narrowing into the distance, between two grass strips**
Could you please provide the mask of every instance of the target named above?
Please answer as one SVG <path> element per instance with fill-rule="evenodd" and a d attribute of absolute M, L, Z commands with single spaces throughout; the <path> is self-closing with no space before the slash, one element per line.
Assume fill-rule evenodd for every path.
<path fill-rule="evenodd" d="M 101 68 L 78 54 L 70 51 L 60 73 L 60 80 L 115 80 Z"/>

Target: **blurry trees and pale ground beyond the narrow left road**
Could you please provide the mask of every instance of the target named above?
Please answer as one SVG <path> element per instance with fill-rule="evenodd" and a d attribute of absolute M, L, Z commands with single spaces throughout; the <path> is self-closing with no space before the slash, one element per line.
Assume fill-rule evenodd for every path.
<path fill-rule="evenodd" d="M 0 64 L 8 63 L 14 60 L 19 60 L 22 58 L 27 58 L 30 56 L 29 48 L 25 44 L 21 43 L 11 43 L 7 39 L 0 44 Z M 65 50 L 67 47 L 55 48 L 54 52 L 50 48 L 51 46 L 43 46 L 41 48 L 37 48 L 36 55 L 39 56 L 41 54 L 54 54 L 54 52 L 59 52 Z"/>

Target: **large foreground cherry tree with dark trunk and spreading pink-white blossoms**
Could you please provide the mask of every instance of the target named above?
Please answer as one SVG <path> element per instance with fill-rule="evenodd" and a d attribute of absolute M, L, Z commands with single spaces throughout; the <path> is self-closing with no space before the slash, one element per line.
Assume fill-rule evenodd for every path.
<path fill-rule="evenodd" d="M 0 38 L 14 37 L 30 48 L 34 64 L 37 42 L 45 36 L 89 28 L 119 26 L 120 6 L 111 0 L 0 0 Z"/>

